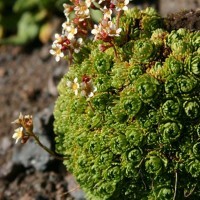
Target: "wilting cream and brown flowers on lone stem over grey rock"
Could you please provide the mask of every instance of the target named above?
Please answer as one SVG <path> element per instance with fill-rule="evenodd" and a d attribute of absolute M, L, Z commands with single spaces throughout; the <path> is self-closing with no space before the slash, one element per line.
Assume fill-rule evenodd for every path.
<path fill-rule="evenodd" d="M 13 124 L 20 125 L 13 134 L 13 139 L 16 139 L 16 143 L 21 139 L 21 143 L 24 144 L 30 137 L 30 133 L 33 130 L 33 117 L 31 115 L 19 114 L 18 119 L 12 122 Z"/>

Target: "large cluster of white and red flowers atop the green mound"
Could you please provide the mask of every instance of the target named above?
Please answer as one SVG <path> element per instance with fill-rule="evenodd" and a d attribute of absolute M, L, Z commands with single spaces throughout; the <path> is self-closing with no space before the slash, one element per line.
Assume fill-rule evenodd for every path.
<path fill-rule="evenodd" d="M 57 62 L 66 51 L 70 55 L 78 53 L 84 39 L 91 33 L 95 35 L 94 40 L 111 43 L 121 32 L 118 23 L 112 22 L 112 15 L 116 12 L 119 18 L 120 13 L 128 9 L 129 0 L 71 0 L 71 3 L 63 4 L 66 21 L 62 24 L 62 34 L 55 34 L 50 50 Z M 103 15 L 98 25 L 92 20 L 91 10 L 98 10 Z"/>

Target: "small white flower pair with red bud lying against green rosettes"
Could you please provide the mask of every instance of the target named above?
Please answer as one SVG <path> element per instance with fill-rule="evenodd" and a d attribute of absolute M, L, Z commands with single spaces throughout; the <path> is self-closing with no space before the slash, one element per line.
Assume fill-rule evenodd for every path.
<path fill-rule="evenodd" d="M 67 80 L 66 85 L 76 96 L 80 90 L 80 95 L 86 98 L 93 97 L 94 93 L 97 91 L 97 88 L 94 86 L 91 78 L 87 75 L 83 75 L 81 83 L 78 82 L 78 78 L 76 77 L 73 81 Z"/>

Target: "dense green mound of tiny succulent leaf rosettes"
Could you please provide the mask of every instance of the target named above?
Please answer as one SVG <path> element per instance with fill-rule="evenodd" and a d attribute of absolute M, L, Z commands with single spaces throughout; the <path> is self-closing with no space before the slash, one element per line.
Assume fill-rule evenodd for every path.
<path fill-rule="evenodd" d="M 61 80 L 57 151 L 88 199 L 198 199 L 200 33 L 167 32 L 151 8 L 126 11 L 120 27 L 115 51 L 88 42 Z M 66 84 L 83 76 L 91 98 Z"/>

